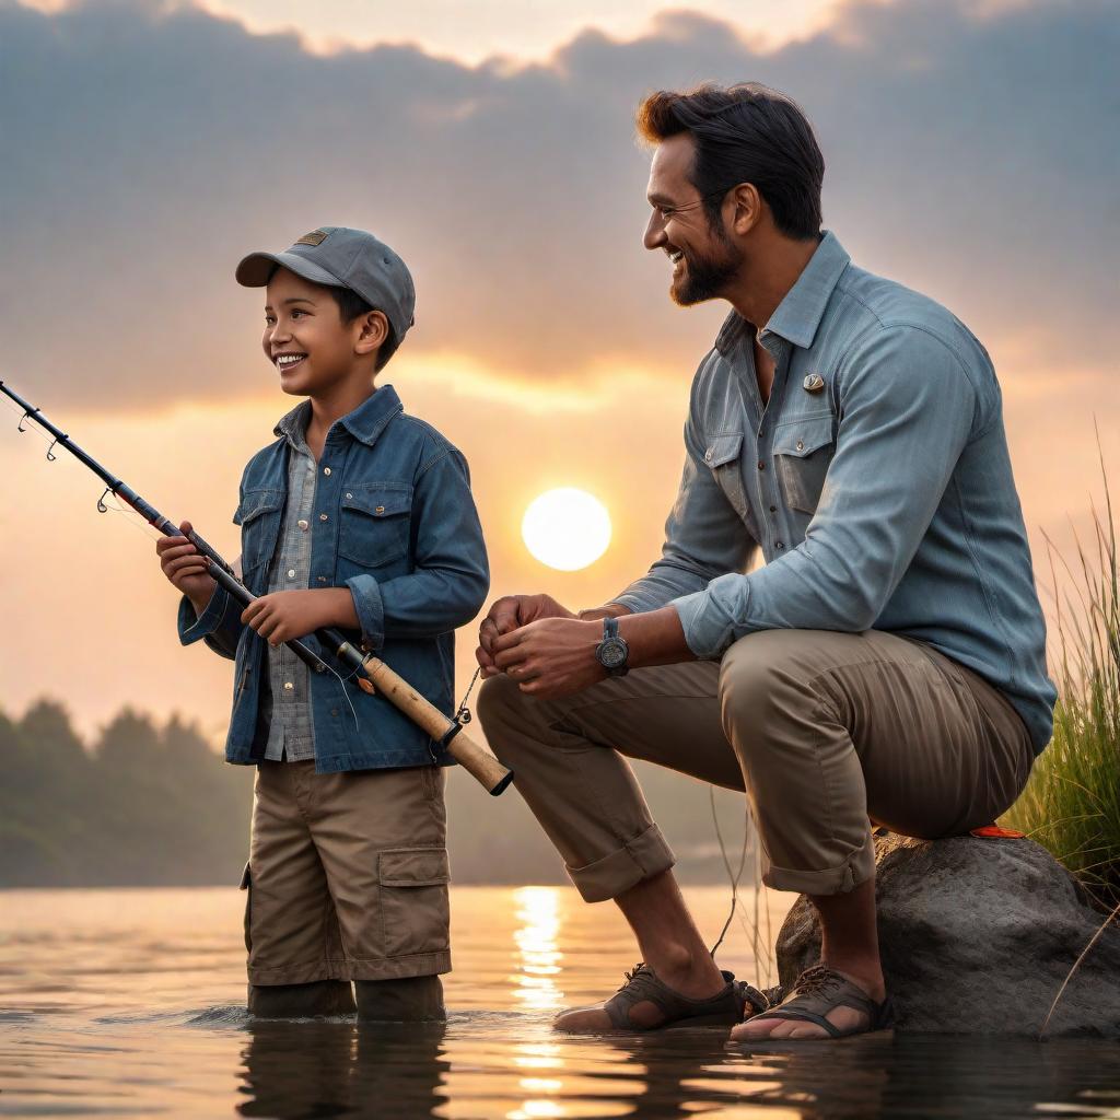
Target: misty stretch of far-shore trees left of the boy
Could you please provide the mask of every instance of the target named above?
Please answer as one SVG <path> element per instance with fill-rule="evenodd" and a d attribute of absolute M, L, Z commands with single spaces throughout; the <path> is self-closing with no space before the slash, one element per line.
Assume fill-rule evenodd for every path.
<path fill-rule="evenodd" d="M 251 774 L 177 717 L 125 708 L 87 749 L 52 700 L 0 713 L 0 886 L 228 881 L 251 804 Z"/>

